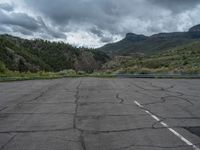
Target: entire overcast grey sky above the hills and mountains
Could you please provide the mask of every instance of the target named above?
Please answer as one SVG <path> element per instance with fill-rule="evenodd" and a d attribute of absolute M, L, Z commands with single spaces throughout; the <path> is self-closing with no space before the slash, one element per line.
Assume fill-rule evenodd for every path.
<path fill-rule="evenodd" d="M 99 47 L 126 33 L 187 31 L 200 0 L 0 0 L 0 34 Z"/>

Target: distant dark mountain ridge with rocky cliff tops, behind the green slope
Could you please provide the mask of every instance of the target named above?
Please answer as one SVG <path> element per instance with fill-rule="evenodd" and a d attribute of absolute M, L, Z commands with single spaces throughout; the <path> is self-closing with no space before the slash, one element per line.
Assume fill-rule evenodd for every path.
<path fill-rule="evenodd" d="M 159 33 L 152 36 L 128 33 L 123 40 L 107 44 L 99 50 L 108 55 L 152 54 L 196 40 L 200 40 L 200 25 L 190 28 L 188 32 Z"/>

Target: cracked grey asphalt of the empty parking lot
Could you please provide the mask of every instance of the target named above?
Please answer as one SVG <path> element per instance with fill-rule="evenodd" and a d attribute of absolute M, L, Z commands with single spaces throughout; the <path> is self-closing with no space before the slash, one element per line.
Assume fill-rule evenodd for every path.
<path fill-rule="evenodd" d="M 200 80 L 66 78 L 0 83 L 0 150 L 194 149 L 135 101 L 200 148 Z"/>

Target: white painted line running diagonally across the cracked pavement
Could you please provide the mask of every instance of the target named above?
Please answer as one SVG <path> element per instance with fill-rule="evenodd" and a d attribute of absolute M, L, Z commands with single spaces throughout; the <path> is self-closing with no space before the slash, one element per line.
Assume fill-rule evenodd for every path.
<path fill-rule="evenodd" d="M 179 139 L 181 139 L 184 143 L 186 143 L 187 145 L 193 147 L 194 150 L 200 150 L 200 148 L 198 148 L 196 145 L 194 145 L 192 142 L 190 142 L 189 140 L 187 140 L 185 137 L 183 137 L 180 133 L 178 133 L 177 131 L 175 131 L 174 129 L 170 128 L 165 122 L 161 121 L 157 116 L 155 116 L 154 114 L 152 114 L 150 111 L 146 110 L 144 106 L 142 106 L 138 101 L 134 101 L 134 103 L 141 108 L 142 110 L 144 110 L 144 112 L 146 112 L 147 114 L 149 114 L 153 119 L 155 119 L 156 121 L 160 122 L 160 124 L 162 126 L 164 126 L 165 128 L 167 128 L 170 132 L 172 132 L 174 135 L 176 135 Z"/>

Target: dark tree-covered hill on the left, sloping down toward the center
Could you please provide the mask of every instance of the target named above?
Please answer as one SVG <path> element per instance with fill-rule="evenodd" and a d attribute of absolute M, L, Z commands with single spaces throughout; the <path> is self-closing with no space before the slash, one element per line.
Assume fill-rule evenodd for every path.
<path fill-rule="evenodd" d="M 65 69 L 92 72 L 109 59 L 105 53 L 94 49 L 76 48 L 63 42 L 21 39 L 10 35 L 0 36 L 0 54 L 0 71 L 7 68 L 20 72 Z"/>

